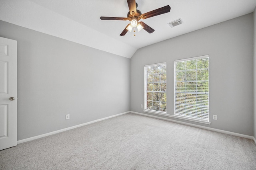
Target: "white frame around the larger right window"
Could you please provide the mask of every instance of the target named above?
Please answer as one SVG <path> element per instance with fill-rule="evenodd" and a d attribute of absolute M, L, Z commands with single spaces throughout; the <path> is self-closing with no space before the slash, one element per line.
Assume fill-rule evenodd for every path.
<path fill-rule="evenodd" d="M 202 59 L 202 58 L 208 58 L 208 120 L 207 119 L 200 119 L 200 118 L 196 118 L 196 117 L 184 116 L 184 115 L 176 114 L 176 112 L 175 112 L 175 110 L 176 110 L 176 73 L 177 73 L 175 65 L 178 62 L 191 61 L 191 60 L 194 60 L 194 59 Z M 198 80 L 196 80 L 196 81 L 198 81 Z M 210 121 L 209 121 L 209 119 L 210 119 L 210 109 L 209 109 L 210 108 L 209 107 L 209 96 L 210 95 L 209 95 L 209 92 L 210 92 L 210 57 L 209 57 L 209 55 L 204 55 L 204 56 L 199 56 L 199 57 L 191 57 L 191 58 L 186 58 L 186 59 L 181 59 L 181 60 L 175 60 L 174 61 L 174 115 L 172 117 L 185 119 L 185 120 L 190 120 L 190 121 L 196 121 L 196 122 L 200 122 L 200 123 L 210 124 Z"/>

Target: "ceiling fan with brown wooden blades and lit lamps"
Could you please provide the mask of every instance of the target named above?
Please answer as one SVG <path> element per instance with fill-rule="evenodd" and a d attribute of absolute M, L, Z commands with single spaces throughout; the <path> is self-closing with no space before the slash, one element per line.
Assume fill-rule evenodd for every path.
<path fill-rule="evenodd" d="M 155 30 L 153 28 L 151 28 L 150 26 L 148 26 L 146 23 L 140 21 L 138 22 L 140 19 L 144 20 L 153 16 L 158 16 L 161 14 L 165 14 L 167 12 L 170 12 L 171 8 L 169 5 L 164 6 L 162 8 L 158 8 L 156 10 L 141 14 L 141 12 L 139 10 L 137 10 L 138 4 L 135 2 L 135 0 L 127 0 L 128 3 L 128 7 L 129 7 L 129 12 L 127 14 L 127 18 L 122 18 L 122 17 L 100 17 L 101 20 L 129 20 L 131 21 L 131 23 L 129 23 L 125 29 L 122 31 L 122 33 L 120 34 L 120 36 L 123 36 L 127 33 L 127 31 L 132 31 L 133 27 L 137 27 L 138 31 L 140 31 L 141 29 L 146 30 L 148 33 L 152 33 Z M 134 34 L 135 35 L 135 34 Z"/>

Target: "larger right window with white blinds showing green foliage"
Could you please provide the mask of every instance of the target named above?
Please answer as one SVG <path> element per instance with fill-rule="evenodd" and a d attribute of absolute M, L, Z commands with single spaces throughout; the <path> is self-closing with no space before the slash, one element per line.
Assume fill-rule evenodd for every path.
<path fill-rule="evenodd" d="M 174 61 L 174 115 L 209 121 L 209 56 Z"/>

